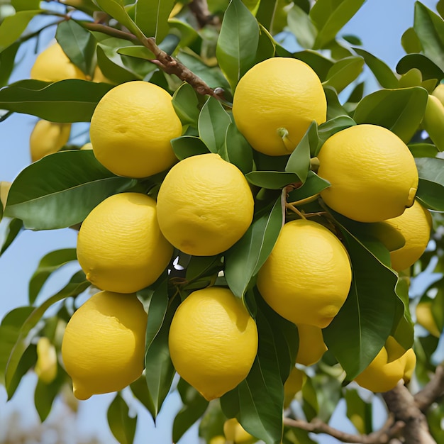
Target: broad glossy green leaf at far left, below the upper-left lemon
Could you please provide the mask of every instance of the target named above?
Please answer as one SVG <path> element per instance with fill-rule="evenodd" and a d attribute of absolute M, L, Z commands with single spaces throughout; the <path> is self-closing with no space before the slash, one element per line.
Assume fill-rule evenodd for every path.
<path fill-rule="evenodd" d="M 9 190 L 5 214 L 20 218 L 33 230 L 65 228 L 82 222 L 106 197 L 135 183 L 135 179 L 106 170 L 91 150 L 60 151 L 18 174 Z"/>

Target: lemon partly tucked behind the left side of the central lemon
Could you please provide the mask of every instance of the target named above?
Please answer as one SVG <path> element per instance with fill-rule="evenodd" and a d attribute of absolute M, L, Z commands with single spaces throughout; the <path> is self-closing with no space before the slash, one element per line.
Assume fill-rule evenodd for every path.
<path fill-rule="evenodd" d="M 156 204 L 141 193 L 113 194 L 85 218 L 77 259 L 87 279 L 102 290 L 133 293 L 155 282 L 172 256 L 160 233 Z"/>

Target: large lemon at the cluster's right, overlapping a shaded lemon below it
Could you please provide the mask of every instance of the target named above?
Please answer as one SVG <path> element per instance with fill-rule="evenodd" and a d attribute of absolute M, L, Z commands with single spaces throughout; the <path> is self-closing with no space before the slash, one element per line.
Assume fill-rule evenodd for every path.
<path fill-rule="evenodd" d="M 414 203 L 414 157 L 387 128 L 363 124 L 339 131 L 323 144 L 318 160 L 318 175 L 331 183 L 321 197 L 350 219 L 384 221 Z"/>

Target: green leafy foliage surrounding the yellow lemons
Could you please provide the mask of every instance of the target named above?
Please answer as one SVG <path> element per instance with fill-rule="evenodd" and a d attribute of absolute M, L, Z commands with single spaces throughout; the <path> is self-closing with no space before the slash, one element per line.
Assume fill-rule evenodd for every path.
<path fill-rule="evenodd" d="M 414 347 L 419 387 L 429 382 L 439 364 L 433 355 L 438 339 L 414 325 L 413 313 L 418 301 L 433 301 L 433 318 L 443 330 L 444 219 L 440 212 L 444 211 L 444 160 L 438 143 L 422 126 L 428 94 L 444 80 L 442 1 L 438 2 L 439 13 L 416 2 L 414 25 L 402 38 L 406 55 L 399 60 L 396 72 L 360 48 L 359 38 L 341 35 L 345 23 L 364 3 L 211 0 L 206 10 L 202 7 L 206 2 L 183 0 L 0 2 L 0 8 L 13 6 L 7 11 L 0 9 L 1 125 L 8 125 L 13 113 L 53 122 L 89 122 L 96 104 L 111 87 L 143 79 L 172 94 L 184 126 L 183 135 L 172 140 L 179 160 L 217 152 L 236 165 L 255 190 L 254 219 L 238 243 L 214 257 L 177 252 L 180 267 L 170 265 L 168 278 L 165 273 L 139 292 L 149 313 L 145 352 L 149 372 L 129 390 L 153 418 L 162 414 L 166 396 L 179 392 L 183 407 L 172 426 L 174 442 L 200 421 L 199 435 L 209 443 L 223 434 L 223 421 L 231 417 L 267 444 L 314 442 L 308 434 L 314 429 L 282 421 L 284 382 L 296 358 L 296 328 L 274 313 L 255 287 L 257 272 L 270 255 L 282 223 L 296 214 L 333 225 L 350 254 L 354 284 L 343 309 L 323 331 L 328 352 L 317 365 L 303 369 L 304 387 L 293 404 L 300 409 L 290 406 L 286 416 L 302 418 L 306 424 L 313 418 L 328 423 L 338 401 L 343 400 L 357 433 L 371 433 L 371 401 L 349 382 L 377 355 L 388 335 L 394 335 L 404 348 Z M 106 82 L 21 79 L 9 83 L 11 72 L 20 63 L 18 48 L 34 45 L 40 49 L 40 35 L 47 28 L 87 78 L 99 67 Z M 282 32 L 294 35 L 297 50 L 290 52 L 279 43 L 277 35 Z M 231 115 L 240 77 L 257 62 L 274 56 L 295 57 L 310 65 L 323 82 L 328 101 L 326 123 L 313 123 L 294 153 L 281 157 L 252 150 Z M 179 64 L 168 65 L 171 60 Z M 365 67 L 380 86 L 370 94 L 362 80 Z M 372 234 L 370 224 L 353 223 L 326 208 L 318 197 L 329 184 L 313 170 L 310 157 L 316 156 L 330 135 L 359 123 L 389 128 L 416 157 L 417 198 L 433 210 L 434 234 L 409 274 L 396 273 L 387 266 L 387 248 Z M 13 248 L 23 228 L 76 228 L 107 196 L 128 190 L 155 196 L 165 177 L 118 177 L 102 167 L 91 151 L 80 150 L 81 145 L 65 148 L 29 165 L 13 181 L 2 214 L 7 235 L 1 253 Z M 53 272 L 75 260 L 72 250 L 57 250 L 43 257 L 30 280 L 28 306 L 14 309 L 1 321 L 0 382 L 9 398 L 23 374 L 35 365 L 35 343 L 40 336 L 47 335 L 60 349 L 56 326 L 68 321 L 75 298 L 89 288 L 89 282 L 79 271 L 47 301 L 41 302 L 38 294 Z M 408 282 L 430 272 L 438 277 L 428 288 L 421 294 L 409 294 Z M 208 403 L 187 382 L 174 379 L 167 332 L 177 308 L 175 296 L 185 297 L 214 282 L 228 285 L 243 298 L 257 321 L 260 346 L 248 377 L 220 402 Z M 56 302 L 55 314 L 48 316 L 47 309 Z M 68 381 L 62 362 L 58 369 L 59 376 L 49 387 L 40 382 L 36 389 L 36 408 L 43 419 Z M 125 399 L 116 394 L 108 418 L 116 439 L 132 443 L 137 419 L 128 415 Z M 443 418 L 443 409 L 433 409 L 428 416 L 436 440 L 442 437 L 436 424 Z"/>

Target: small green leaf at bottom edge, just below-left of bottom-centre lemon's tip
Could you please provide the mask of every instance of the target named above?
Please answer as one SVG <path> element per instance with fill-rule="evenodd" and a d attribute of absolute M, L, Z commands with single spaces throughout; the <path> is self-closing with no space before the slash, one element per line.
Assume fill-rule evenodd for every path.
<path fill-rule="evenodd" d="M 209 401 L 189 385 L 179 379 L 177 390 L 184 406 L 179 410 L 172 424 L 172 440 L 177 443 L 186 431 L 205 413 Z"/>

